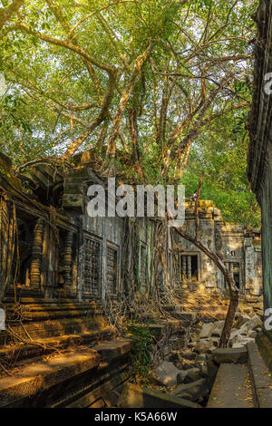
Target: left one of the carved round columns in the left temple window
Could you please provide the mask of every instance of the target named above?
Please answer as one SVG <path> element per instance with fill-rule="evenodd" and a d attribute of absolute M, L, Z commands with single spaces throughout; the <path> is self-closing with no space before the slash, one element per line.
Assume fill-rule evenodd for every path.
<path fill-rule="evenodd" d="M 41 261 L 43 253 L 44 219 L 38 218 L 34 226 L 34 242 L 30 265 L 30 285 L 33 288 L 41 286 Z"/>

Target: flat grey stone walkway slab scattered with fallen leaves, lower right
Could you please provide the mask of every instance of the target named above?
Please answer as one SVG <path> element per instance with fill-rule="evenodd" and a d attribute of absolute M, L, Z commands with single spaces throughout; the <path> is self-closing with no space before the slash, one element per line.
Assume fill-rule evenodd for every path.
<path fill-rule="evenodd" d="M 221 363 L 208 408 L 254 408 L 247 363 Z"/>

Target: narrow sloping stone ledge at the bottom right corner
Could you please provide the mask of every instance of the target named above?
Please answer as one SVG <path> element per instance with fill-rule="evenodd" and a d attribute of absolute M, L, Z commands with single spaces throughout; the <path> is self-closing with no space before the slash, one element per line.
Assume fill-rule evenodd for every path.
<path fill-rule="evenodd" d="M 270 353 L 271 354 L 271 353 Z M 272 407 L 272 375 L 267 367 L 257 344 L 248 344 L 248 365 L 253 387 L 255 406 Z"/>

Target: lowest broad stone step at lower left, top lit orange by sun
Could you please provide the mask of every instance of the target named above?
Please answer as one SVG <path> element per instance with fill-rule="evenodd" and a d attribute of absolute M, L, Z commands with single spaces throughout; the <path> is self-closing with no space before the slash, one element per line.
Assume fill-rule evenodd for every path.
<path fill-rule="evenodd" d="M 87 407 L 101 397 L 110 406 L 114 398 L 110 392 L 107 402 L 107 390 L 113 392 L 130 376 L 130 350 L 130 341 L 116 340 L 27 360 L 0 378 L 0 408 Z"/>

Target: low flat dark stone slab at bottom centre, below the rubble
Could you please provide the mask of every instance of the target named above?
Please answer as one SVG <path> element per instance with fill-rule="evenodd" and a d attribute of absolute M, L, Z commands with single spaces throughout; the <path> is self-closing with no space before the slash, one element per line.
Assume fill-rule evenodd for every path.
<path fill-rule="evenodd" d="M 195 402 L 181 399 L 176 395 L 146 389 L 126 383 L 119 398 L 121 408 L 201 408 Z"/>

